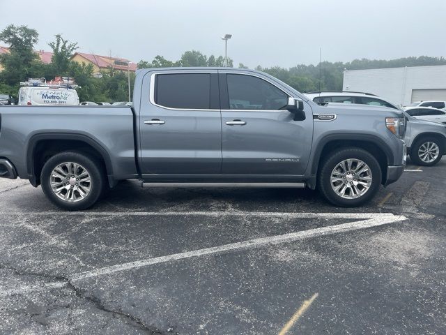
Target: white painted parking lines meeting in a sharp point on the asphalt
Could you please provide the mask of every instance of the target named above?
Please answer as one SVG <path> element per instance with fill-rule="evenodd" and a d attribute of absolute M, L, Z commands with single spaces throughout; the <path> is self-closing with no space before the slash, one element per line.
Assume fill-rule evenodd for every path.
<path fill-rule="evenodd" d="M 54 212 L 61 214 L 60 212 Z M 192 214 L 193 213 L 193 214 Z M 48 215 L 45 212 L 35 212 L 31 213 L 34 215 Z M 130 213 L 106 213 L 106 212 L 83 212 L 83 213 L 67 213 L 67 215 L 75 214 L 89 214 L 89 215 L 203 215 L 203 216 L 220 216 L 220 215 L 232 215 L 232 216 L 289 216 L 295 218 L 346 218 L 346 219 L 358 219 L 362 218 L 360 221 L 354 221 L 351 223 L 342 223 L 339 225 L 331 225 L 322 228 L 315 228 L 310 230 L 303 230 L 300 232 L 291 232 L 289 234 L 274 235 L 270 237 L 261 237 L 259 239 L 249 239 L 247 241 L 240 241 L 231 244 L 224 244 L 222 246 L 215 246 L 211 248 L 203 248 L 195 251 L 187 251 L 184 253 L 175 253 L 173 255 L 166 255 L 157 258 L 148 258 L 146 260 L 137 260 L 135 262 L 128 262 L 119 265 L 112 265 L 110 267 L 102 267 L 100 269 L 95 269 L 92 271 L 85 271 L 78 274 L 72 274 L 68 276 L 70 281 L 81 281 L 86 278 L 102 276 L 105 274 L 114 274 L 116 272 L 126 271 L 130 269 L 138 269 L 141 267 L 146 267 L 148 265 L 155 265 L 165 262 L 172 262 L 176 260 L 184 260 L 187 258 L 197 258 L 203 255 L 216 255 L 224 253 L 227 251 L 238 251 L 248 248 L 256 248 L 259 246 L 266 245 L 277 245 L 282 243 L 288 243 L 291 241 L 298 241 L 300 239 L 308 239 L 311 237 L 320 237 L 330 234 L 337 234 L 341 232 L 351 232 L 353 230 L 361 230 L 365 228 L 377 227 L 380 225 L 385 225 L 389 223 L 397 223 L 399 221 L 407 220 L 405 216 L 394 215 L 389 213 L 275 213 L 275 212 L 222 212 L 222 211 L 206 211 L 206 212 L 130 212 Z M 1 213 L 0 213 L 1 215 Z M 23 214 L 21 214 L 23 215 Z M 49 288 L 61 288 L 68 283 L 46 283 L 39 286 L 26 286 L 23 288 L 17 288 L 15 290 L 0 290 L 0 297 L 7 297 L 10 295 L 26 294 L 29 292 L 36 292 L 40 290 L 46 290 Z"/>

